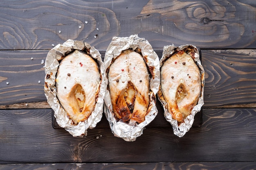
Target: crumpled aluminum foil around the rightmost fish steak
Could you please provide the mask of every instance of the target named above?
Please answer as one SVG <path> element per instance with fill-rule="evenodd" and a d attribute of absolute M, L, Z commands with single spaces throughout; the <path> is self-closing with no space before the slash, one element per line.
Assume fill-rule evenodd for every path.
<path fill-rule="evenodd" d="M 195 63 L 197 63 L 201 72 L 202 90 L 201 90 L 201 96 L 198 100 L 198 104 L 193 107 L 191 114 L 184 119 L 184 122 L 178 125 L 177 120 L 172 118 L 171 113 L 168 113 L 166 101 L 158 93 L 159 100 L 162 103 L 162 106 L 164 108 L 164 116 L 166 120 L 169 123 L 171 123 L 171 125 L 173 126 L 173 133 L 178 137 L 183 137 L 186 134 L 186 132 L 189 131 L 189 129 L 191 128 L 194 122 L 195 114 L 198 113 L 201 110 L 202 106 L 204 105 L 204 68 L 202 67 L 202 64 L 200 61 L 200 53 L 198 51 L 198 48 L 189 44 L 184 46 L 179 46 L 179 47 L 176 47 L 173 44 L 170 46 L 164 46 L 162 58 L 160 59 L 160 68 L 161 68 L 168 56 L 172 55 L 176 51 L 188 50 L 188 49 L 195 53 L 194 61 Z"/>

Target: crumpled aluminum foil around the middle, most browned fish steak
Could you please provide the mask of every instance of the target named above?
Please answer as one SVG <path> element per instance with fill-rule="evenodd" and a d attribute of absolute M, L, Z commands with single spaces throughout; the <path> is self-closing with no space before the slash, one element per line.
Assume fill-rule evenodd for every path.
<path fill-rule="evenodd" d="M 104 105 L 104 113 L 108 122 L 110 124 L 110 128 L 112 133 L 116 137 L 121 137 L 125 141 L 131 142 L 135 141 L 137 137 L 139 137 L 143 133 L 143 129 L 146 125 L 148 125 L 156 116 L 157 116 L 157 107 L 156 107 L 156 94 L 160 85 L 160 70 L 159 70 L 159 58 L 152 46 L 148 43 L 144 38 L 139 38 L 137 35 L 131 35 L 130 37 L 113 37 L 110 45 L 108 46 L 104 58 L 105 69 L 108 70 L 111 65 L 113 59 L 117 58 L 122 51 L 127 49 L 135 50 L 136 48 L 141 49 L 141 54 L 146 57 L 146 64 L 154 68 L 151 74 L 153 74 L 152 78 L 150 78 L 150 94 L 149 94 L 149 109 L 150 112 L 146 115 L 145 121 L 141 123 L 137 123 L 135 121 L 130 120 L 127 122 L 117 121 L 115 119 L 115 114 L 112 110 L 112 103 L 110 98 L 110 92 L 106 89 L 105 94 L 105 105 Z M 104 72 L 104 79 L 106 83 L 106 87 L 108 86 L 108 78 L 107 72 Z"/>

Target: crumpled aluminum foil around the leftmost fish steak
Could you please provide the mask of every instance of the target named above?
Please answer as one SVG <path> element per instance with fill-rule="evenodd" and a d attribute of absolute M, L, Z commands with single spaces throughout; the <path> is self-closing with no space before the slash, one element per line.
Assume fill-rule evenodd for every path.
<path fill-rule="evenodd" d="M 95 109 L 89 116 L 88 120 L 79 122 L 78 124 L 72 124 L 72 120 L 67 117 L 66 111 L 63 109 L 58 98 L 56 97 L 55 78 L 59 63 L 65 56 L 72 53 L 74 50 L 85 49 L 90 49 L 90 56 L 97 60 L 102 80 Z M 99 51 L 83 41 L 68 39 L 65 43 L 58 44 L 52 48 L 52 50 L 50 50 L 47 54 L 45 59 L 45 96 L 47 98 L 47 102 L 54 110 L 54 116 L 58 125 L 65 128 L 65 130 L 74 137 L 83 137 L 87 135 L 87 129 L 93 129 L 102 118 L 105 95 L 105 83 L 103 79 L 104 70 L 104 64 Z"/>

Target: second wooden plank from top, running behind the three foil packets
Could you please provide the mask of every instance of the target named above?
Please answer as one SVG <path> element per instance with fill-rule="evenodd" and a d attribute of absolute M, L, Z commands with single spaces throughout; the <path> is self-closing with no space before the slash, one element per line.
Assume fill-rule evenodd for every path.
<path fill-rule="evenodd" d="M 0 109 L 50 108 L 41 64 L 47 52 L 0 51 Z M 162 50 L 156 52 L 162 57 Z M 256 50 L 202 50 L 202 65 L 204 108 L 256 107 Z"/>

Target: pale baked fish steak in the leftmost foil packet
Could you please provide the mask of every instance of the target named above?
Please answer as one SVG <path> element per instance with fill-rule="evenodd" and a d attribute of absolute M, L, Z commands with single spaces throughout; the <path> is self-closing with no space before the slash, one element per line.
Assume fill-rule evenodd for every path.
<path fill-rule="evenodd" d="M 101 75 L 88 54 L 75 50 L 62 59 L 56 76 L 58 100 L 74 124 L 88 119 L 96 105 Z"/>

